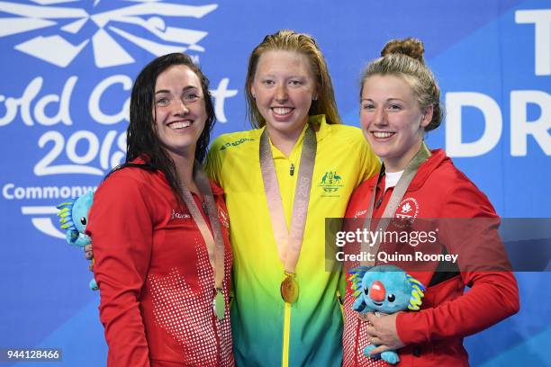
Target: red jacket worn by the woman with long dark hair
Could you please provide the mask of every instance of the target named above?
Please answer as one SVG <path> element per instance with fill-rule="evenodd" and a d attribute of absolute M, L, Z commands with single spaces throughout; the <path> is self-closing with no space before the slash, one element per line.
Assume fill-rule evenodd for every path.
<path fill-rule="evenodd" d="M 221 321 L 212 309 L 214 281 L 203 237 L 165 175 L 123 168 L 95 192 L 87 231 L 109 366 L 233 366 L 229 221 L 221 188 L 212 183 L 212 192 L 225 243 Z"/>

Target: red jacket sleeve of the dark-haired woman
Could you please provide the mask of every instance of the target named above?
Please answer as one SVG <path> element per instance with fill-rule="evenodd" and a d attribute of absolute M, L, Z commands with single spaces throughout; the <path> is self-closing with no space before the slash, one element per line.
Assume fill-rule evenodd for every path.
<path fill-rule="evenodd" d="M 125 175 L 131 169 L 101 185 L 86 229 L 94 246 L 109 366 L 149 366 L 140 292 L 149 268 L 152 222 L 140 184 Z"/>

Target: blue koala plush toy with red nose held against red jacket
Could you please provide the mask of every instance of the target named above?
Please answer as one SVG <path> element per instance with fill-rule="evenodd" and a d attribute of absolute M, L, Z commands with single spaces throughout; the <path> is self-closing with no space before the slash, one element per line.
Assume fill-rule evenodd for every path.
<path fill-rule="evenodd" d="M 417 279 L 394 265 L 374 267 L 358 266 L 352 269 L 352 282 L 356 301 L 352 309 L 360 313 L 377 312 L 392 314 L 404 309 L 419 310 L 425 287 Z M 364 354 L 369 354 L 377 345 L 367 345 Z M 378 358 L 378 356 L 376 357 Z M 395 351 L 381 353 L 381 358 L 391 364 L 400 362 Z"/>

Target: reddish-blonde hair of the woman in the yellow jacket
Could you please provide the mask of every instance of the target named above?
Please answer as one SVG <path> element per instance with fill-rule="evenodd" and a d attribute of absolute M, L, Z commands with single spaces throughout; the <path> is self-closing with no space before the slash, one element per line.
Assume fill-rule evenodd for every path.
<path fill-rule="evenodd" d="M 247 102 L 248 119 L 255 128 L 266 125 L 266 120 L 257 108 L 257 103 L 252 96 L 250 87 L 257 72 L 258 60 L 266 51 L 284 50 L 298 52 L 304 55 L 310 62 L 312 76 L 316 83 L 317 98 L 312 100 L 309 116 L 325 114 L 325 121 L 330 124 L 340 123 L 335 93 L 329 75 L 325 58 L 312 36 L 296 31 L 282 30 L 274 34 L 268 34 L 248 58 L 247 78 L 245 80 L 245 93 Z"/>

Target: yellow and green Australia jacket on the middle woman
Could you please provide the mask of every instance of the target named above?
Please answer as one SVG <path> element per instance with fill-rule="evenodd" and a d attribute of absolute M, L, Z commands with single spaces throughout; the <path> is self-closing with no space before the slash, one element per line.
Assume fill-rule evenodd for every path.
<path fill-rule="evenodd" d="M 325 218 L 342 218 L 348 198 L 379 170 L 361 130 L 312 116 L 318 142 L 303 246 L 296 265 L 299 297 L 281 298 L 284 266 L 277 253 L 258 157 L 263 129 L 221 135 L 212 143 L 207 174 L 226 194 L 233 247 L 231 328 L 242 366 L 340 366 L 342 313 L 339 270 L 326 270 Z M 272 145 L 287 228 L 304 131 L 289 157 Z M 294 168 L 292 168 L 294 167 Z M 293 171 L 293 172 L 292 172 Z"/>

